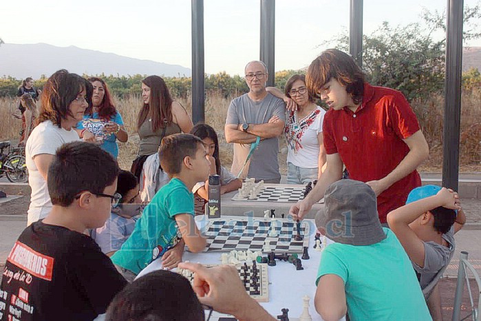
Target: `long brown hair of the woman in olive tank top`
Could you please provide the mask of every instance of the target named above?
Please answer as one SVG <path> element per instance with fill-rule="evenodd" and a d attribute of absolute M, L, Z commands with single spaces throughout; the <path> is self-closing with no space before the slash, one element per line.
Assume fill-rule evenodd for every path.
<path fill-rule="evenodd" d="M 142 83 L 150 88 L 150 103 L 144 103 L 137 117 L 137 130 L 145 122 L 147 116 L 152 117 L 152 131 L 172 123 L 172 96 L 164 79 L 159 76 L 148 76 Z"/>

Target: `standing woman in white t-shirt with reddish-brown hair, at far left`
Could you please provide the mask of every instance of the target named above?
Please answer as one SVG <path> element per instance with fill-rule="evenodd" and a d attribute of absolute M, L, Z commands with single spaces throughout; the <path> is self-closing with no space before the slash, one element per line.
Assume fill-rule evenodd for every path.
<path fill-rule="evenodd" d="M 56 149 L 78 141 L 74 127 L 92 105 L 92 85 L 78 74 L 58 70 L 43 87 L 38 125 L 25 146 L 28 184 L 32 189 L 28 225 L 47 216 L 52 209 L 47 189 L 47 172 Z"/>

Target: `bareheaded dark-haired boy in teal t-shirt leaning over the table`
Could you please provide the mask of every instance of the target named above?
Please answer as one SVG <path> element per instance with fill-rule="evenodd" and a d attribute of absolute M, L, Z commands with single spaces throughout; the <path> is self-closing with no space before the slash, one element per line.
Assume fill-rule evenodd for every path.
<path fill-rule="evenodd" d="M 131 236 L 111 257 L 128 281 L 157 258 L 163 267 L 176 267 L 184 244 L 194 253 L 206 245 L 195 225 L 191 192 L 195 183 L 209 177 L 204 144 L 191 134 L 174 134 L 162 140 L 159 154 L 162 169 L 172 179 L 145 207 Z"/>

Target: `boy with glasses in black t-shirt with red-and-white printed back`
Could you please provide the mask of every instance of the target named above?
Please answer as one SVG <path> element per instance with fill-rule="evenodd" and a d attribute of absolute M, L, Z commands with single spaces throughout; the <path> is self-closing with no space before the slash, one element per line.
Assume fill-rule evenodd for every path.
<path fill-rule="evenodd" d="M 98 164 L 102 164 L 99 166 Z M 118 165 L 100 147 L 60 147 L 47 173 L 52 211 L 23 230 L 0 285 L 0 320 L 93 320 L 127 281 L 89 236 L 110 215 Z"/>

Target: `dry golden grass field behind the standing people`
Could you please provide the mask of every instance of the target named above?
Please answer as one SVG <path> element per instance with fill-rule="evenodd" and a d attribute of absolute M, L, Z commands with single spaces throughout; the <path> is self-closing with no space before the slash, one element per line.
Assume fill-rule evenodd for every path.
<path fill-rule="evenodd" d="M 178 99 L 191 114 L 191 99 Z M 224 121 L 231 98 L 224 99 L 221 94 L 208 92 L 206 95 L 206 123 L 217 131 L 220 141 L 221 159 L 223 165 L 232 163 L 232 146 L 224 138 Z M 129 169 L 131 161 L 138 149 L 136 135 L 136 116 L 142 106 L 140 96 L 130 96 L 127 99 L 115 98 L 116 106 L 125 121 L 129 132 L 129 141 L 119 143 L 120 167 Z M 421 166 L 425 172 L 440 172 L 442 169 L 442 119 L 443 97 L 431 96 L 429 101 L 414 101 L 412 103 L 418 120 L 430 147 L 429 160 Z M 21 121 L 12 114 L 17 111 L 17 99 L 0 98 L 0 140 L 14 140 L 18 138 Z M 280 147 L 286 144 L 284 138 L 280 140 Z M 460 169 L 461 172 L 481 172 L 481 90 L 471 90 L 462 94 L 461 132 L 460 132 Z M 279 154 L 281 172 L 286 174 L 286 155 Z"/>

